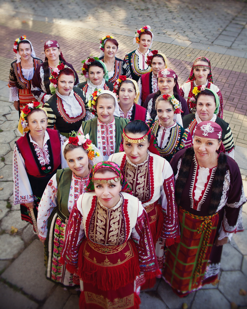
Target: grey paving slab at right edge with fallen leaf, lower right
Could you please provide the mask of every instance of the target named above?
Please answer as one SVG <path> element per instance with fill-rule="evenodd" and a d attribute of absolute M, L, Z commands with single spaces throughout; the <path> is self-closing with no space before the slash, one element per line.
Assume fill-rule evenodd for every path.
<path fill-rule="evenodd" d="M 247 290 L 247 278 L 241 271 L 223 271 L 220 277 L 219 290 L 229 302 L 237 305 L 247 304 L 247 295 L 239 295 L 240 289 Z"/>

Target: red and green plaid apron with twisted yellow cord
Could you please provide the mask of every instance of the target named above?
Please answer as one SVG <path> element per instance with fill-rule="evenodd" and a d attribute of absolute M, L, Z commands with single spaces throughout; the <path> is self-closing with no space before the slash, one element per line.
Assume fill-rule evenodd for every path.
<path fill-rule="evenodd" d="M 181 242 L 167 249 L 163 276 L 178 292 L 201 286 L 219 220 L 218 213 L 198 217 L 179 209 Z"/>

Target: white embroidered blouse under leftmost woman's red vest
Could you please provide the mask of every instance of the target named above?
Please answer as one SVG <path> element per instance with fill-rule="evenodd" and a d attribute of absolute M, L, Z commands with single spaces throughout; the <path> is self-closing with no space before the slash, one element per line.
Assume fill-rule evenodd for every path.
<path fill-rule="evenodd" d="M 48 153 L 47 141 L 50 139 L 47 131 L 44 133 L 44 143 L 43 149 L 32 139 L 31 134 L 29 133 L 30 141 L 34 145 L 35 152 L 40 161 L 40 164 L 49 164 L 50 155 Z M 62 154 L 62 146 L 64 144 L 63 138 L 61 137 L 61 167 L 68 167 L 67 161 L 64 159 Z M 14 180 L 14 205 L 31 203 L 34 201 L 32 189 L 30 182 L 27 177 L 27 172 L 25 168 L 25 161 L 22 155 L 19 153 L 17 146 L 15 145 L 14 154 L 13 154 L 13 180 Z M 27 198 L 28 197 L 28 198 Z"/>

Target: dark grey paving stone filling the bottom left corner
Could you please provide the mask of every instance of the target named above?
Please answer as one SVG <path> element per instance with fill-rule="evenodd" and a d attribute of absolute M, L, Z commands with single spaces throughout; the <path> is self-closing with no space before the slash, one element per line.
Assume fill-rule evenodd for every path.
<path fill-rule="evenodd" d="M 36 309 L 38 304 L 27 298 L 20 292 L 10 289 L 9 286 L 0 282 L 0 299 L 2 309 Z"/>

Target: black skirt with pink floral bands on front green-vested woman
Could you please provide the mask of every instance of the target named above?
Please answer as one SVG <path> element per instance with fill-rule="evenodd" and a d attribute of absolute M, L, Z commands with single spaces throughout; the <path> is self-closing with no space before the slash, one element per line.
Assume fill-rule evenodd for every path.
<path fill-rule="evenodd" d="M 65 265 L 59 263 L 65 239 L 67 225 L 62 222 L 57 211 L 53 211 L 48 220 L 48 232 L 45 240 L 45 266 L 47 279 L 70 289 L 79 288 L 79 277 L 69 273 Z"/>

